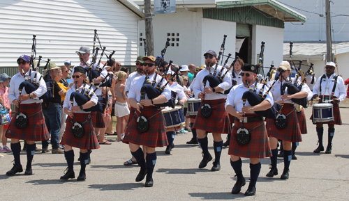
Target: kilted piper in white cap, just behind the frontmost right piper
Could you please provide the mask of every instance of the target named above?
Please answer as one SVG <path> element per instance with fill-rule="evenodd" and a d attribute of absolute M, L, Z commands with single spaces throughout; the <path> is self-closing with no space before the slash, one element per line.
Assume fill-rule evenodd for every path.
<path fill-rule="evenodd" d="M 274 177 L 274 175 L 278 175 L 278 170 L 276 168 L 277 163 L 277 155 L 278 155 L 278 139 L 282 140 L 283 143 L 283 173 L 281 175 L 281 179 L 288 179 L 289 177 L 289 168 L 290 162 L 292 160 L 292 142 L 301 142 L 301 130 L 299 128 L 299 123 L 297 120 L 297 115 L 295 111 L 294 103 L 291 101 L 291 98 L 300 99 L 306 97 L 309 92 L 309 87 L 304 84 L 302 90 L 299 93 L 295 93 L 293 95 L 288 94 L 287 89 L 285 90 L 285 94 L 281 94 L 281 87 L 285 84 L 284 79 L 288 79 L 291 73 L 290 63 L 287 61 L 283 61 L 279 67 L 278 71 L 281 74 L 280 78 L 274 84 L 270 93 L 272 93 L 274 102 L 283 105 L 282 106 L 282 114 L 287 118 L 287 124 L 285 127 L 278 128 L 275 125 L 275 121 L 273 119 L 267 119 L 267 132 L 270 141 L 270 147 L 272 148 L 272 156 L 270 157 L 272 161 L 272 168 L 267 173 L 267 177 Z M 282 81 L 282 82 L 281 82 Z M 270 87 L 274 81 L 268 83 Z"/>

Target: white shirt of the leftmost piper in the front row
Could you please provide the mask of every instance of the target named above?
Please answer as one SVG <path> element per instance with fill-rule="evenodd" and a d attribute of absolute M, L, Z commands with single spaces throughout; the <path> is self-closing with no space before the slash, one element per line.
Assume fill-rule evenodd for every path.
<path fill-rule="evenodd" d="M 26 73 L 26 77 L 29 77 L 29 70 Z M 36 83 L 38 83 L 38 80 L 41 77 L 41 74 L 39 72 L 36 71 L 31 71 L 31 81 L 33 81 L 34 77 L 36 77 Z M 20 96 L 20 90 L 18 90 L 18 88 L 20 87 L 20 84 L 24 81 L 24 77 L 22 76 L 22 74 L 20 74 L 20 72 L 18 72 L 17 74 L 15 74 L 12 79 L 10 80 L 10 88 L 8 90 L 8 99 L 10 99 L 10 102 L 12 103 L 13 100 L 18 99 L 18 97 Z M 21 104 L 32 104 L 32 103 L 40 103 L 41 100 L 39 99 L 40 96 L 44 95 L 47 91 L 46 88 L 46 83 L 43 79 L 43 77 L 40 80 L 40 84 L 38 89 L 34 90 L 34 92 L 32 92 L 33 94 L 36 95 L 35 98 L 32 99 L 28 99 L 26 101 L 21 102 Z M 25 88 L 23 88 L 22 90 L 22 95 L 27 94 L 27 92 L 25 91 Z"/>

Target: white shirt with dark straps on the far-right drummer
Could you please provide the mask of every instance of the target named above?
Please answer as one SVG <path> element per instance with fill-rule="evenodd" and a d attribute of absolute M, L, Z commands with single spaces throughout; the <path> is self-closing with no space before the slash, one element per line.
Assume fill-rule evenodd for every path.
<path fill-rule="evenodd" d="M 318 78 L 318 81 L 316 81 L 315 86 L 313 88 L 313 94 L 317 95 L 331 95 L 332 89 L 334 86 L 334 74 L 332 74 L 329 78 L 327 75 L 325 75 L 325 79 L 322 79 L 322 77 Z M 321 94 L 320 94 L 320 81 L 322 79 L 321 83 Z M 338 77 L 337 79 L 337 85 L 336 89 L 334 90 L 334 95 L 335 97 L 339 98 L 339 101 L 342 102 L 344 99 L 346 99 L 346 87 L 344 86 L 344 81 L 342 77 Z M 332 95 L 331 95 L 332 96 Z"/>

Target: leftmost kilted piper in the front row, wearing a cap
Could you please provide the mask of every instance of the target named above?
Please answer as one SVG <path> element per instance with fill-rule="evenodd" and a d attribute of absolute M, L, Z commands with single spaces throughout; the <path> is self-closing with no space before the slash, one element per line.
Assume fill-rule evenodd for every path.
<path fill-rule="evenodd" d="M 11 150 L 15 158 L 13 168 L 6 172 L 6 175 L 10 176 L 15 175 L 17 172 L 23 172 L 23 168 L 20 163 L 21 139 L 27 140 L 27 168 L 24 175 L 32 175 L 33 172 L 31 170 L 31 161 L 33 160 L 36 149 L 35 141 L 47 140 L 50 138 L 45 124 L 45 118 L 43 116 L 43 112 L 41 111 L 41 100 L 39 99 L 40 96 L 46 93 L 46 83 L 44 79 L 40 79 L 40 73 L 31 72 L 31 74 L 29 74 L 29 62 L 30 57 L 25 54 L 17 59 L 19 72 L 11 79 L 10 89 L 8 92 L 8 99 L 10 99 L 12 104 L 15 104 L 16 111 L 19 110 L 19 113 L 24 113 L 24 115 L 27 115 L 28 119 L 27 126 L 20 129 L 16 126 L 16 117 L 19 114 L 16 113 L 6 131 L 6 137 L 11 138 Z M 24 74 L 22 72 L 24 72 Z M 34 79 L 35 77 L 39 86 L 36 90 L 29 94 L 26 93 L 26 90 L 22 90 L 22 94 L 20 95 L 20 84 L 24 81 L 24 78 L 27 77 L 31 77 L 31 79 Z"/>

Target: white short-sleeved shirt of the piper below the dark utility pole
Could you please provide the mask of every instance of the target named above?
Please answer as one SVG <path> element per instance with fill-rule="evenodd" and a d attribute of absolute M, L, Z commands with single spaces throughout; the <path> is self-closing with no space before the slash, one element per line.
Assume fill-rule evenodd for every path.
<path fill-rule="evenodd" d="M 140 102 L 140 89 L 143 86 L 144 80 L 145 80 L 145 75 L 142 75 L 141 77 L 136 77 L 135 79 L 133 79 L 131 86 L 130 86 L 130 90 L 128 90 L 128 99 L 135 99 L 137 102 Z M 155 77 L 155 73 L 149 75 L 149 80 L 152 82 L 154 80 Z M 156 76 L 156 83 L 155 86 L 158 85 L 158 82 L 161 81 L 161 76 L 157 75 Z M 163 79 L 162 83 L 161 83 L 161 87 L 163 85 L 165 85 L 166 81 L 165 79 Z M 166 99 L 169 100 L 171 98 L 171 92 L 168 88 L 168 85 L 165 87 L 165 90 L 163 90 L 163 93 L 161 93 L 161 95 L 165 95 Z M 149 99 L 147 94 L 145 95 L 145 99 Z"/>

